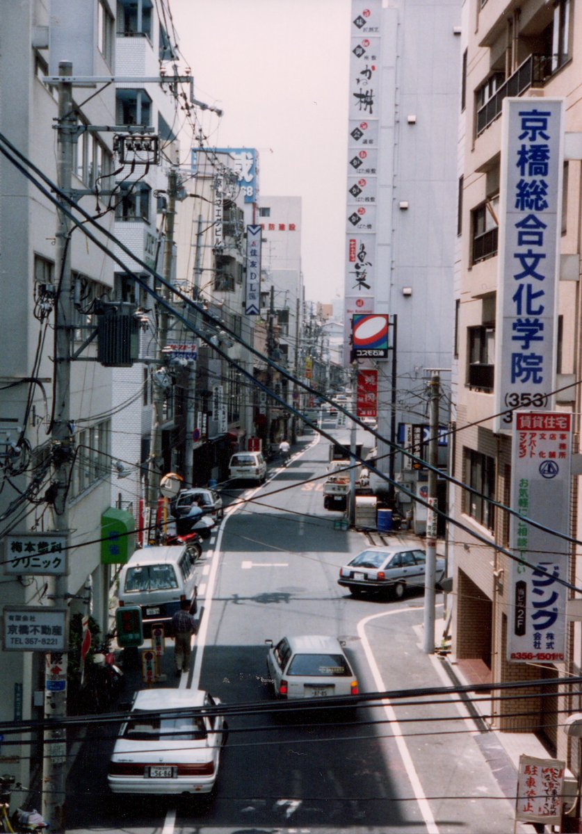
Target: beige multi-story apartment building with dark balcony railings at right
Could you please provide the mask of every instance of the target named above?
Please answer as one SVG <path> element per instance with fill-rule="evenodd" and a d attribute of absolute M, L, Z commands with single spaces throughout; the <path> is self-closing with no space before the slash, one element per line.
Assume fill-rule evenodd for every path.
<path fill-rule="evenodd" d="M 508 425 L 510 429 L 515 418 L 509 410 L 504 412 L 507 419 L 499 422 L 499 411 L 508 405 L 516 405 L 511 400 L 504 402 L 500 409 L 496 392 L 507 367 L 511 366 L 516 378 L 519 377 L 518 365 L 512 359 L 518 337 L 515 336 L 513 341 L 504 340 L 503 350 L 499 347 L 506 319 L 504 308 L 500 306 L 501 293 L 503 290 L 505 297 L 514 292 L 517 295 L 521 277 L 520 274 L 514 276 L 514 284 L 508 288 L 508 260 L 500 249 L 503 242 L 509 240 L 507 207 L 511 203 L 504 186 L 509 181 L 504 171 L 511 165 L 507 139 L 511 128 L 508 116 L 502 113 L 504 99 L 523 100 L 519 113 L 534 113 L 536 117 L 549 110 L 549 104 L 544 108 L 544 100 L 562 100 L 564 121 L 561 130 L 566 140 L 569 133 L 579 133 L 582 129 L 580 12 L 579 4 L 570 0 L 555 3 L 468 0 L 464 3 L 455 270 L 456 431 L 452 475 L 474 491 L 454 489 L 452 514 L 464 527 L 462 530 L 451 528 L 455 541 L 450 552 L 454 557 L 454 656 L 469 673 L 477 668 L 484 680 L 488 677 L 502 682 L 551 680 L 557 676 L 578 675 L 581 664 L 579 623 L 566 627 L 563 663 L 508 661 L 509 623 L 514 622 L 516 598 L 510 584 L 511 560 L 497 548 L 509 546 L 510 520 L 502 507 L 491 503 L 509 505 L 512 435 Z M 554 137 L 553 141 L 559 143 L 561 138 Z M 522 138 L 519 141 L 528 140 Z M 579 438 L 580 394 L 579 386 L 573 383 L 579 379 L 580 353 L 581 172 L 580 153 L 570 152 L 569 141 L 564 142 L 564 148 L 564 162 L 562 164 L 558 158 L 556 180 L 559 183 L 562 179 L 561 205 L 558 186 L 553 192 L 556 196 L 552 197 L 556 203 L 555 213 L 558 217 L 561 213 L 561 226 L 558 225 L 557 234 L 554 234 L 559 250 L 558 266 L 554 270 L 553 265 L 549 265 L 547 279 L 555 292 L 555 330 L 551 339 L 555 347 L 554 367 L 544 380 L 541 374 L 539 379 L 534 375 L 532 384 L 543 382 L 550 408 L 573 415 L 574 437 Z M 549 180 L 547 174 L 546 178 Z M 538 250 L 534 247 L 539 241 L 534 238 L 529 241 L 529 253 L 522 255 L 518 251 L 514 259 L 520 258 L 520 262 L 524 262 L 524 257 L 529 258 L 530 264 L 533 263 L 531 259 L 537 259 L 535 253 Z M 538 272 L 537 284 L 543 278 L 540 270 Z M 538 298 L 539 287 L 534 289 Z M 549 313 L 551 315 L 551 309 Z M 529 324 L 533 326 L 534 319 L 529 319 Z M 554 324 L 550 322 L 549 326 Z M 539 348 L 534 347 L 542 335 L 531 343 L 531 357 L 539 353 Z M 548 390 L 547 379 L 553 380 L 554 392 Z M 531 397 L 522 399 L 518 405 L 524 409 L 536 406 Z M 579 540 L 577 496 L 574 483 L 570 492 L 570 533 Z M 515 499 L 512 508 L 518 510 L 519 507 Z M 472 534 L 479 535 L 479 540 Z M 578 560 L 574 555 L 569 560 L 568 577 L 564 578 L 579 586 Z M 577 771 L 577 744 L 574 741 L 569 746 L 559 725 L 563 724 L 569 711 L 579 709 L 578 703 L 558 686 L 544 688 L 544 693 L 545 696 L 541 696 L 535 691 L 534 698 L 527 701 L 494 697 L 492 721 L 502 730 L 534 731 L 550 753 L 567 759 Z M 525 694 L 525 688 L 521 694 Z M 525 708 L 524 704 L 527 705 Z"/>

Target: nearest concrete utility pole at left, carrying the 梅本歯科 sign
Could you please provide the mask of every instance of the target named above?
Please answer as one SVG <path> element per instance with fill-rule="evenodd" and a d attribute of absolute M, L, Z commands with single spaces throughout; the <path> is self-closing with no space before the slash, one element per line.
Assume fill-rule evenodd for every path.
<path fill-rule="evenodd" d="M 73 173 L 73 140 L 77 130 L 77 116 L 73 110 L 73 64 L 63 61 L 58 65 L 58 132 L 57 181 L 64 193 L 71 193 Z M 65 553 L 68 555 L 69 518 L 67 491 L 73 461 L 73 430 L 71 427 L 71 343 L 73 337 L 73 287 L 71 284 L 71 223 L 60 209 L 57 212 L 55 241 L 55 271 L 58 287 L 55 307 L 56 349 L 54 356 L 54 419 L 51 446 L 55 466 L 56 494 L 53 500 L 55 527 L 67 534 Z M 67 558 L 69 558 L 67 556 Z M 67 575 L 55 577 L 53 600 L 64 606 L 68 600 Z M 45 684 L 44 717 L 61 721 L 67 715 L 68 635 L 65 635 L 63 655 L 48 654 L 45 671 L 59 669 L 63 689 L 49 690 Z M 60 683 L 60 681 L 59 681 Z M 67 777 L 67 737 L 64 729 L 48 730 L 43 758 L 43 817 L 58 834 L 64 831 L 65 780 Z"/>

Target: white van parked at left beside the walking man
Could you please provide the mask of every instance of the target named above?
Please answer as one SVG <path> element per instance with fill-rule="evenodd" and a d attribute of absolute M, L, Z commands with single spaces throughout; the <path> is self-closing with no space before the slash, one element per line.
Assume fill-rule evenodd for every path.
<path fill-rule="evenodd" d="M 193 555 L 186 545 L 136 550 L 119 576 L 119 605 L 139 605 L 144 636 L 153 623 L 168 625 L 182 600 L 198 610 L 198 585 Z M 166 629 L 168 633 L 168 629 Z"/>

